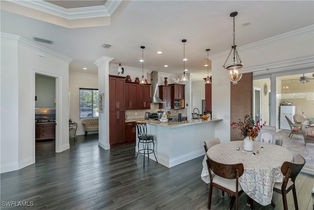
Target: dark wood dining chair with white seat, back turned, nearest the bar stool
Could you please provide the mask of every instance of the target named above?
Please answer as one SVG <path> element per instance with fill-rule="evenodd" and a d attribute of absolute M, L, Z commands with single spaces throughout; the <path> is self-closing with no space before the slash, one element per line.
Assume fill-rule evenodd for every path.
<path fill-rule="evenodd" d="M 235 210 L 238 210 L 238 196 L 243 192 L 238 179 L 244 172 L 243 164 L 218 163 L 210 159 L 208 155 L 207 159 L 210 170 L 216 175 L 213 177 L 211 173 L 209 173 L 210 183 L 207 208 L 210 209 L 211 206 L 212 187 L 216 187 L 232 195 L 228 209 L 231 209 L 235 203 Z"/>

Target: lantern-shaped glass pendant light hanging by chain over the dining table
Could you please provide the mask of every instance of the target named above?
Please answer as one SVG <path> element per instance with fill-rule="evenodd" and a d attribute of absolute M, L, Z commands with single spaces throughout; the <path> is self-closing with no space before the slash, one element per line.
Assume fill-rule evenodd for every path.
<path fill-rule="evenodd" d="M 230 79 L 231 82 L 233 82 L 233 84 L 237 84 L 237 81 L 239 81 L 242 77 L 242 74 L 240 73 L 240 69 L 243 67 L 243 63 L 239 57 L 239 54 L 237 53 L 236 50 L 236 45 L 235 45 L 235 16 L 237 15 L 237 12 L 233 12 L 230 14 L 230 17 L 234 18 L 234 45 L 231 47 L 231 51 L 227 57 L 227 60 L 225 61 L 223 67 L 225 69 L 227 69 L 227 73 L 228 73 L 228 77 Z M 228 65 L 226 67 L 226 63 L 232 53 L 232 51 L 234 51 L 234 60 L 233 62 L 230 63 L 230 65 Z M 236 59 L 236 60 L 235 60 Z"/>

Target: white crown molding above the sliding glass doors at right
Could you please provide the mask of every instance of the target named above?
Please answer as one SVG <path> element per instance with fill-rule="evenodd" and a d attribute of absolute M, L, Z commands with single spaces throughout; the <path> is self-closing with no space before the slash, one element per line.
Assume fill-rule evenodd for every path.
<path fill-rule="evenodd" d="M 274 45 L 276 43 L 279 42 L 283 42 L 283 41 L 287 41 L 289 39 L 294 39 L 300 36 L 305 36 L 305 35 L 309 35 L 309 34 L 314 34 L 314 25 L 302 28 L 302 29 L 298 29 L 298 30 L 293 30 L 287 33 L 283 33 L 277 36 L 273 36 L 267 39 L 263 39 L 261 41 L 257 41 L 257 42 L 253 42 L 251 44 L 247 44 L 241 47 L 236 47 L 238 53 L 245 53 L 251 50 L 256 50 L 259 49 L 261 47 L 265 47 L 265 46 L 269 46 L 269 45 Z M 216 60 L 216 59 L 220 59 L 220 58 L 225 58 L 228 56 L 230 50 L 222 52 L 222 53 L 218 53 L 212 56 L 209 56 L 209 60 Z"/>

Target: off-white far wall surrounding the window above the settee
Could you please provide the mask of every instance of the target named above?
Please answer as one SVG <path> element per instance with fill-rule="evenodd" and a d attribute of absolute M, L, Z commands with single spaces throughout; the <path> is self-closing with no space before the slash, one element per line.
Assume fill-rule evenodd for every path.
<path fill-rule="evenodd" d="M 79 89 L 97 89 L 98 75 L 69 72 L 70 118 L 78 123 L 77 135 L 83 135 L 82 120 L 79 118 Z M 89 132 L 92 133 L 92 132 Z"/>

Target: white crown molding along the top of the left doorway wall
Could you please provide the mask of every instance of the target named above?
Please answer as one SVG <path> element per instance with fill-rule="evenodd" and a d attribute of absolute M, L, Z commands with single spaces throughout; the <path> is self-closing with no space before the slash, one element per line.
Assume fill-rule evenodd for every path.
<path fill-rule="evenodd" d="M 57 58 L 57 59 L 61 59 L 61 60 L 65 60 L 66 62 L 71 62 L 73 59 L 67 57 L 67 56 L 64 56 L 60 53 L 57 53 L 47 47 L 44 47 L 40 44 L 37 44 L 33 41 L 30 41 L 26 38 L 23 38 L 22 36 L 17 36 L 17 35 L 14 35 L 14 34 L 10 34 L 10 33 L 4 33 L 4 32 L 1 32 L 0 33 L 0 37 L 1 37 L 1 40 L 5 40 L 5 41 L 10 41 L 10 42 L 14 42 L 14 43 L 17 43 L 17 44 L 21 44 L 25 47 L 28 47 L 30 49 L 33 49 L 33 50 L 36 50 L 36 51 L 39 51 L 40 53 L 43 53 L 45 55 L 49 55 L 49 56 L 52 56 L 54 58 Z"/>

